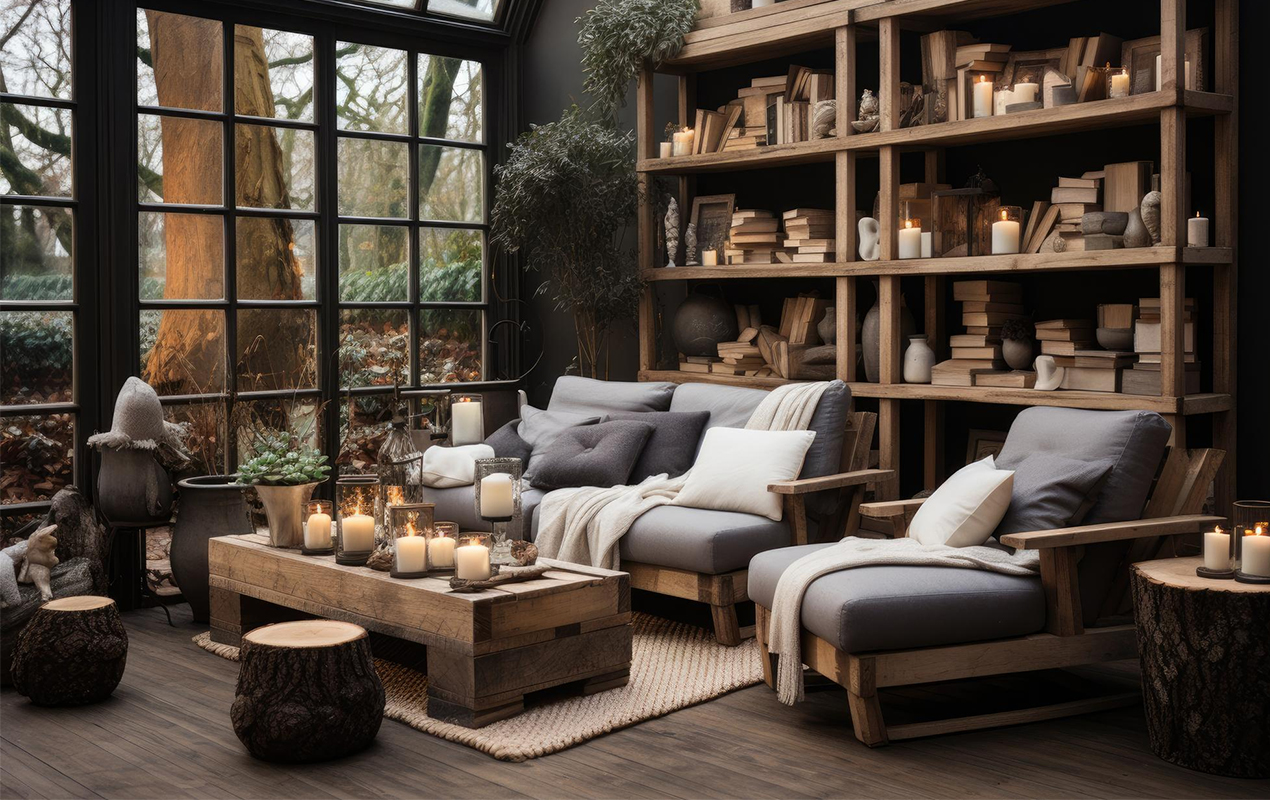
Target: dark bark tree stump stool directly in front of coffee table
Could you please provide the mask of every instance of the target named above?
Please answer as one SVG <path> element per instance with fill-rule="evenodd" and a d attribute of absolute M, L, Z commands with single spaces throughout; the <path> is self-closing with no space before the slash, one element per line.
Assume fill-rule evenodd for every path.
<path fill-rule="evenodd" d="M 243 636 L 234 733 L 257 758 L 310 762 L 367 747 L 384 720 L 384 684 L 358 625 L 278 622 Z"/>

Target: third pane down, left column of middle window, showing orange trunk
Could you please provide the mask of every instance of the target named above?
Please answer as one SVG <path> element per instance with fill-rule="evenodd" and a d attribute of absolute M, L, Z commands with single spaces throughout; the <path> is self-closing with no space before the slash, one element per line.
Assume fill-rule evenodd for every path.
<path fill-rule="evenodd" d="M 225 220 L 213 213 L 137 212 L 141 300 L 222 300 Z"/>

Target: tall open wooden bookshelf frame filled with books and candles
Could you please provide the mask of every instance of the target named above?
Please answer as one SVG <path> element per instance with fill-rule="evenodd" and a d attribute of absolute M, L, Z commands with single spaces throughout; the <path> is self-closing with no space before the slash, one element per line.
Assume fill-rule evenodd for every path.
<path fill-rule="evenodd" d="M 832 279 L 833 305 L 839 310 L 837 338 L 837 377 L 846 381 L 855 396 L 875 401 L 879 409 L 878 448 L 883 469 L 899 470 L 899 441 L 919 436 L 925 441 L 922 483 L 933 488 L 944 477 L 944 409 L 947 403 L 982 403 L 1015 406 L 1048 405 L 1062 408 L 1152 410 L 1165 415 L 1173 427 L 1172 444 L 1187 444 L 1187 419 L 1206 415 L 1212 424 L 1213 446 L 1227 457 L 1217 476 L 1217 508 L 1233 499 L 1236 463 L 1234 363 L 1237 253 L 1233 249 L 1238 217 L 1237 164 L 1237 0 L 1214 0 L 1212 22 L 1213 70 L 1209 91 L 1180 88 L 1179 66 L 1186 25 L 1185 0 L 1160 1 L 1162 42 L 1162 89 L 1128 98 L 1081 103 L 1002 117 L 965 119 L 912 128 L 899 127 L 899 32 L 956 28 L 959 23 L 983 17 L 1008 17 L 1044 5 L 1069 0 L 786 0 L 763 9 L 752 9 L 702 20 L 686 38 L 683 51 L 663 71 L 677 74 L 681 124 L 691 124 L 696 74 L 723 66 L 763 61 L 776 56 L 832 48 L 836 60 L 836 93 L 839 103 L 837 128 L 832 138 L 775 145 L 738 152 L 716 152 L 673 159 L 658 159 L 657 131 L 653 122 L 653 72 L 645 70 L 638 91 L 638 173 L 641 185 L 654 177 L 678 182 L 681 208 L 691 207 L 693 175 L 711 171 L 782 169 L 800 164 L 832 165 L 837 203 L 837 253 L 828 264 L 748 264 L 723 267 L 664 268 L 664 255 L 655 250 L 655 218 L 652 199 L 640 206 L 640 270 L 648 286 L 640 303 L 640 380 L 673 382 L 712 382 L 730 386 L 772 389 L 787 381 L 779 377 L 745 377 L 659 370 L 657 364 L 657 286 L 665 281 L 730 281 L 771 278 Z M 857 42 L 876 41 L 879 50 L 879 130 L 856 135 L 851 128 L 860 91 L 855 81 Z M 1212 168 L 1193 159 L 1186 163 L 1186 121 L 1212 117 L 1214 149 Z M 1153 126 L 1160 137 L 1160 183 L 1163 194 L 1162 244 L 1153 248 L 1081 253 L 1046 253 L 978 258 L 898 260 L 897 213 L 883 213 L 881 259 L 861 262 L 856 257 L 855 184 L 861 157 L 878 159 L 880 204 L 898 208 L 899 155 L 926 154 L 925 180 L 939 182 L 941 151 L 988 141 L 1025 140 L 1125 126 Z M 1147 133 L 1144 133 L 1147 136 Z M 1209 169 L 1212 170 L 1209 173 Z M 1193 175 L 1209 173 L 1215 190 L 1212 248 L 1186 248 L 1186 210 L 1184 207 L 1187 170 Z M 772 211 L 780 211 L 773 208 Z M 1189 268 L 1189 269 L 1187 269 Z M 926 295 L 926 316 L 918 329 L 926 331 L 936 353 L 946 353 L 944 301 L 949 282 L 958 276 L 1050 272 L 1101 272 L 1113 269 L 1153 269 L 1158 273 L 1161 297 L 1161 396 L 1093 391 L 1038 391 L 1022 389 L 979 389 L 904 383 L 900 377 L 900 278 L 918 276 Z M 880 382 L 862 382 L 857 376 L 856 340 L 857 282 L 879 284 Z M 1213 350 L 1200 353 L 1205 370 L 1212 370 L 1212 391 L 1186 395 L 1182 366 L 1182 303 L 1187 279 L 1212 284 L 1213 307 L 1201 316 L 1212 329 Z M 1096 298 L 1092 301 L 1096 302 Z M 900 404 L 921 403 L 923 424 L 900 430 Z M 898 497 L 898 485 L 879 486 L 883 499 Z"/>

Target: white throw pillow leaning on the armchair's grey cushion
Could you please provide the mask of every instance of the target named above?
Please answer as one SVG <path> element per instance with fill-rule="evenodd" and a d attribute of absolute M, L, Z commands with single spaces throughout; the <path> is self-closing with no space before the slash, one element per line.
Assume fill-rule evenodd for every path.
<path fill-rule="evenodd" d="M 992 538 L 1010 509 L 1015 471 L 998 470 L 992 456 L 952 474 L 913 514 L 908 537 L 923 545 L 973 547 Z"/>

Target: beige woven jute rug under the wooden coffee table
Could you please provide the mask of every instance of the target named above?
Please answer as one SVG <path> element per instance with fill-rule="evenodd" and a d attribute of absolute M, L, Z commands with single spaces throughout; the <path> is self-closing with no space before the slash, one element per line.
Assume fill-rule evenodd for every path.
<path fill-rule="evenodd" d="M 387 696 L 384 714 L 502 761 L 526 761 L 763 679 L 758 643 L 753 639 L 738 648 L 725 648 L 707 630 L 645 613 L 634 615 L 634 629 L 631 679 L 626 686 L 526 707 L 523 714 L 475 730 L 428 716 L 425 674 L 375 659 Z M 239 658 L 237 648 L 216 644 L 210 634 L 194 636 L 194 644 L 221 658 Z"/>

